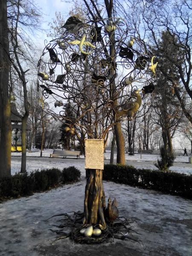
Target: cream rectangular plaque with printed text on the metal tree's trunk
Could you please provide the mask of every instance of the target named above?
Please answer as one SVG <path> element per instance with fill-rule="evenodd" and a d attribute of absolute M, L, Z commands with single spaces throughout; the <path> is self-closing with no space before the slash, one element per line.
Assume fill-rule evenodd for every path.
<path fill-rule="evenodd" d="M 104 169 L 104 140 L 85 140 L 85 169 Z"/>

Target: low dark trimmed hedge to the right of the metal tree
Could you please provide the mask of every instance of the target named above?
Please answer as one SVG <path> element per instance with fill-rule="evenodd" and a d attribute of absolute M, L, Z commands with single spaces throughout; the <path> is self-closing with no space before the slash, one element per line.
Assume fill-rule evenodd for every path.
<path fill-rule="evenodd" d="M 192 199 L 192 175 L 106 164 L 103 179 Z"/>

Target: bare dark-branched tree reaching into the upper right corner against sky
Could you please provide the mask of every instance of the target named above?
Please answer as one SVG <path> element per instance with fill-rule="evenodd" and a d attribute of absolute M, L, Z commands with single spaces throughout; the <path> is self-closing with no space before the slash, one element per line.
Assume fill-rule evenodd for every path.
<path fill-rule="evenodd" d="M 170 81 L 180 106 L 186 118 L 192 123 L 192 8 L 190 0 L 167 1 L 139 1 L 137 5 L 140 19 L 151 44 L 163 56 L 166 66 L 158 69 Z M 142 4 L 143 3 L 143 4 Z M 136 6 L 134 6 L 136 7 Z M 137 17 L 139 18 L 139 17 Z M 138 30 L 137 26 L 137 30 Z M 161 44 L 162 31 L 166 31 L 164 47 Z M 168 37 L 169 35 L 169 37 Z M 154 54 L 157 51 L 152 51 Z M 169 65 L 168 65 L 169 64 Z M 174 70 L 174 73 L 170 73 Z M 189 101 L 186 102 L 186 98 Z"/>

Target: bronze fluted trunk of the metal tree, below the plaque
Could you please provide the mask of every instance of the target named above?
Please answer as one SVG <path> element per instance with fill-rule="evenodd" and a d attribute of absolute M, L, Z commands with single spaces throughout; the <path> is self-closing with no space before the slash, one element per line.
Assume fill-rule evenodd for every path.
<path fill-rule="evenodd" d="M 83 224 L 102 224 L 103 227 L 106 227 L 104 218 L 106 205 L 102 184 L 102 170 L 86 169 L 86 179 Z"/>

